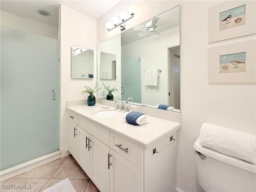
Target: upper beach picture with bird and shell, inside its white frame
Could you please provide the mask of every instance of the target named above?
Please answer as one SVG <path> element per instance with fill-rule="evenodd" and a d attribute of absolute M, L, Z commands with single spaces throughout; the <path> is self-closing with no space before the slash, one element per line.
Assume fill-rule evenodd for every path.
<path fill-rule="evenodd" d="M 220 13 L 220 31 L 245 25 L 246 5 Z"/>

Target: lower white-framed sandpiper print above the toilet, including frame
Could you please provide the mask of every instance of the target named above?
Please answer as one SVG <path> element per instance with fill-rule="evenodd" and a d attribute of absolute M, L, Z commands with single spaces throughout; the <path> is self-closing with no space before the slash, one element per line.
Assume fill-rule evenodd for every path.
<path fill-rule="evenodd" d="M 255 83 L 256 40 L 208 49 L 209 83 Z"/>

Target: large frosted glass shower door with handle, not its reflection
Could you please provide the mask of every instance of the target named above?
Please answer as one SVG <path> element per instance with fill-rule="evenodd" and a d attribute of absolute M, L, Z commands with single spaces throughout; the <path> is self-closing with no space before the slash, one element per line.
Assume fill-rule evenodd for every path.
<path fill-rule="evenodd" d="M 1 170 L 59 149 L 58 47 L 1 27 Z"/>

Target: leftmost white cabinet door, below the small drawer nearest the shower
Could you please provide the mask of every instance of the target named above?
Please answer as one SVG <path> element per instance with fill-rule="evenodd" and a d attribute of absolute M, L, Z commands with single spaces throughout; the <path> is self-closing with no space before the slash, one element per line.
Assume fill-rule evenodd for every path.
<path fill-rule="evenodd" d="M 77 125 L 68 120 L 68 151 L 78 161 L 79 145 L 77 135 Z"/>

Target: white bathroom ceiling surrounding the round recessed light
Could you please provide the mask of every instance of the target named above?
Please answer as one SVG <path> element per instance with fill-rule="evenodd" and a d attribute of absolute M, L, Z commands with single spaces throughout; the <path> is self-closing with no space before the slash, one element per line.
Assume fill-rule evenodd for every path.
<path fill-rule="evenodd" d="M 58 8 L 60 4 L 98 19 L 118 2 L 119 0 L 0 0 L 0 9 L 58 27 Z M 37 13 L 38 9 L 45 10 L 51 15 L 42 16 Z"/>

